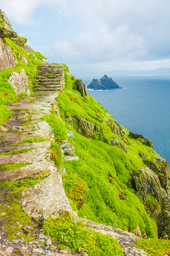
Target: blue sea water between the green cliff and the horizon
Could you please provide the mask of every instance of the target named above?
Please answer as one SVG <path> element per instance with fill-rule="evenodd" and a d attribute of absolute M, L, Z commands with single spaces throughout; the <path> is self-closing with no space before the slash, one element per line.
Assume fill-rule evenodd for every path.
<path fill-rule="evenodd" d="M 152 140 L 155 151 L 170 165 L 170 75 L 126 75 L 112 79 L 125 89 L 89 90 L 89 94 L 119 124 Z"/>

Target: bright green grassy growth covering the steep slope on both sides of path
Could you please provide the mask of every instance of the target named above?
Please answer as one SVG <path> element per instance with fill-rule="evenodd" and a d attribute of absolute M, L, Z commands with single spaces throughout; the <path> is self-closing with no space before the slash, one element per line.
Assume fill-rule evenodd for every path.
<path fill-rule="evenodd" d="M 34 53 L 38 58 L 38 60 L 35 60 L 32 54 L 27 55 L 22 48 L 16 46 L 10 39 L 6 39 L 6 42 L 15 50 L 18 64 L 15 68 L 3 70 L 0 73 L 1 105 L 17 101 L 13 87 L 7 83 L 10 73 L 12 71 L 20 73 L 20 69 L 24 68 L 29 76 L 29 88 L 30 91 L 32 91 L 32 81 L 36 74 L 36 65 L 40 64 L 41 62 L 39 60 L 44 57 L 40 53 Z M 27 57 L 28 66 L 21 62 L 17 54 L 18 52 Z M 66 66 L 65 69 L 68 71 Z M 104 108 L 100 106 L 100 102 L 95 101 L 93 97 L 86 97 L 86 100 L 81 97 L 80 93 L 75 90 L 74 81 L 75 79 L 72 75 L 69 76 L 65 73 L 66 86 L 64 91 L 60 92 L 58 96 L 61 119 L 54 113 L 45 117 L 53 128 L 56 140 L 67 138 L 67 129 L 74 133 L 74 139 L 68 139 L 72 142 L 75 148 L 75 154 L 79 156 L 79 161 L 67 161 L 64 163 L 67 171 L 67 176 L 63 176 L 63 185 L 66 194 L 73 209 L 78 211 L 80 217 L 87 217 L 95 222 L 112 225 L 124 230 L 131 230 L 139 224 L 141 231 L 145 229 L 147 235 L 151 237 L 150 240 L 143 239 L 141 243 L 138 243 L 139 247 L 145 248 L 147 251 L 149 250 L 149 246 L 151 246 L 151 244 L 148 244 L 148 241 L 151 241 L 152 244 L 156 241 L 156 225 L 153 220 L 148 218 L 140 199 L 138 199 L 134 193 L 135 191 L 132 188 L 127 189 L 125 183 L 129 179 L 129 171 L 136 172 L 139 167 L 146 167 L 138 153 L 146 153 L 148 155 L 147 160 L 154 160 L 153 156 L 157 154 L 154 153 L 151 148 L 142 145 L 141 142 L 129 138 L 127 136 L 129 134 L 128 130 L 125 128 L 125 137 L 128 138 L 132 145 L 123 143 L 116 134 L 111 132 L 110 123 L 104 120 L 103 115 L 107 117 L 110 122 L 113 122 L 114 118 L 108 114 L 107 110 L 104 110 Z M 5 93 L 7 93 L 7 96 L 4 96 Z M 0 114 L 4 112 L 4 107 L 5 106 L 1 106 L 0 111 L 1 109 L 2 111 Z M 2 120 L 0 120 L 1 124 L 5 122 L 6 118 L 11 116 L 7 108 L 5 111 L 6 115 L 5 118 L 2 117 Z M 94 125 L 96 124 L 101 128 L 101 132 L 95 132 L 94 139 L 83 137 L 77 132 L 76 123 L 74 128 L 69 125 L 67 117 L 70 114 L 75 117 L 81 116 Z M 96 119 L 98 119 L 98 121 Z M 102 120 L 104 123 L 99 122 L 99 120 Z M 105 133 L 105 142 L 102 135 L 103 131 Z M 111 138 L 117 139 L 123 143 L 129 151 L 129 155 L 116 146 L 110 146 Z M 127 162 L 129 167 L 126 167 Z M 108 174 L 113 178 L 108 178 Z M 13 184 L 11 184 L 11 186 L 13 186 Z M 17 184 L 17 186 L 23 186 L 23 184 Z M 84 193 L 86 194 L 86 201 L 83 207 L 78 210 L 78 205 L 82 201 Z M 119 194 L 123 195 L 123 200 L 119 198 Z M 18 214 L 22 215 L 22 209 L 18 208 L 18 211 L 21 212 L 18 212 Z M 55 222 L 56 225 L 57 221 L 58 220 Z M 50 227 L 51 223 L 46 222 L 46 226 L 47 228 Z M 51 232 L 55 233 L 54 230 L 51 230 Z M 29 239 L 32 240 L 31 238 Z M 102 240 L 102 237 L 98 239 Z M 97 242 L 98 240 L 96 239 L 96 243 Z M 114 245 L 114 248 L 119 251 L 118 245 Z M 163 255 L 161 251 L 160 255 Z"/>

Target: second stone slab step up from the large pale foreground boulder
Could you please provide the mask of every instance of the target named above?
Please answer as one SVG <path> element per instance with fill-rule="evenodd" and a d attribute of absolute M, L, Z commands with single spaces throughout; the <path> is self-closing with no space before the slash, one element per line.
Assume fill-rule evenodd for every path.
<path fill-rule="evenodd" d="M 47 150 L 48 148 L 44 146 L 43 148 L 32 149 L 17 155 L 1 155 L 0 164 L 15 164 L 22 162 L 24 162 L 24 164 L 33 164 L 44 160 L 46 158 Z"/>

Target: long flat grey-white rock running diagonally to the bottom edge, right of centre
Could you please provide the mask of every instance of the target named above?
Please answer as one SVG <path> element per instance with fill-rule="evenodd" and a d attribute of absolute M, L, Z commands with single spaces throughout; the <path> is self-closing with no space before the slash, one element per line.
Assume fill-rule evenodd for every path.
<path fill-rule="evenodd" d="M 123 231 L 121 229 L 113 228 L 112 226 L 92 222 L 89 219 L 78 219 L 83 220 L 87 228 L 91 228 L 96 232 L 108 234 L 109 236 L 117 240 L 117 242 L 123 249 L 124 256 L 147 256 L 146 252 L 135 247 L 135 242 L 137 239 L 139 239 L 138 236 L 127 231 Z"/>

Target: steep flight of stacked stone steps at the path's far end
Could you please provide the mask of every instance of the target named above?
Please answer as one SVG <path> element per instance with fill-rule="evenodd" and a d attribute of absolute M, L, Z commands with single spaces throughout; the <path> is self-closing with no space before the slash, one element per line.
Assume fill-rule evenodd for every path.
<path fill-rule="evenodd" d="M 60 91 L 64 89 L 64 66 L 43 64 L 37 67 L 35 88 L 38 91 Z"/>

